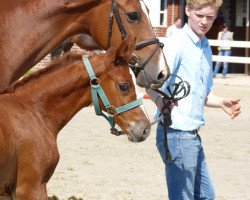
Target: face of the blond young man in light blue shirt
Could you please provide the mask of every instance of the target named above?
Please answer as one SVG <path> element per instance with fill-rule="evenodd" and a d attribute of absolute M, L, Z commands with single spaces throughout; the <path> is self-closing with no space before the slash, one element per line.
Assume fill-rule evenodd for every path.
<path fill-rule="evenodd" d="M 185 11 L 188 16 L 188 26 L 202 39 L 213 25 L 217 17 L 217 9 L 213 5 L 201 9 L 192 9 L 187 5 Z"/>

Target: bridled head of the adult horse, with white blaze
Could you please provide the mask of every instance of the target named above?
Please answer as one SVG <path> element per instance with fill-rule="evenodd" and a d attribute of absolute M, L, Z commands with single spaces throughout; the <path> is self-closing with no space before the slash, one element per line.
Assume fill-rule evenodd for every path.
<path fill-rule="evenodd" d="M 137 84 L 146 88 L 160 87 L 169 76 L 169 68 L 144 2 L 102 0 L 90 13 L 90 35 L 102 48 L 118 46 L 127 34 L 138 38 L 130 63 Z"/>

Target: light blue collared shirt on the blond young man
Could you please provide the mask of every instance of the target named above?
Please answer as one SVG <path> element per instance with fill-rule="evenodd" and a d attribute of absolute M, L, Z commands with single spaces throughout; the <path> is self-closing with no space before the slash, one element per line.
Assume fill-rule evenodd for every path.
<path fill-rule="evenodd" d="M 213 85 L 212 51 L 206 37 L 199 37 L 186 24 L 178 33 L 167 38 L 164 44 L 170 72 L 177 74 L 191 86 L 190 94 L 178 101 L 171 112 L 171 128 L 190 131 L 198 129 L 204 122 L 205 100 Z M 178 82 L 175 77 L 165 81 L 162 91 L 167 93 L 166 86 Z M 157 110 L 155 118 L 159 116 Z"/>

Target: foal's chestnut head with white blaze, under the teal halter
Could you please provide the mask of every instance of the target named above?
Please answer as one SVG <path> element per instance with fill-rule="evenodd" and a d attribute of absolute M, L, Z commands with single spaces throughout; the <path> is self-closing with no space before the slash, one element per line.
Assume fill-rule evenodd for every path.
<path fill-rule="evenodd" d="M 127 62 L 132 59 L 132 51 L 135 48 L 135 40 L 127 37 L 118 49 L 110 49 L 105 56 L 106 72 L 99 77 L 100 85 L 111 105 L 120 107 L 136 99 L 135 82 L 133 72 Z M 100 102 L 103 110 L 103 104 Z M 114 121 L 120 126 L 128 139 L 132 142 L 141 142 L 147 138 L 150 132 L 150 123 L 145 110 L 138 106 L 131 110 L 114 114 Z"/>

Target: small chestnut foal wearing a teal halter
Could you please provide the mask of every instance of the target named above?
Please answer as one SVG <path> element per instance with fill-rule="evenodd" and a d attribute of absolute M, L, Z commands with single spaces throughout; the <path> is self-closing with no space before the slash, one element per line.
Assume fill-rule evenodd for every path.
<path fill-rule="evenodd" d="M 125 62 L 134 43 L 126 40 L 118 49 L 91 56 L 96 76 L 90 73 L 92 85 L 82 56 L 68 54 L 1 92 L 1 200 L 47 200 L 46 184 L 59 161 L 57 135 L 81 108 L 91 105 L 91 87 L 100 83 L 117 112 L 119 106 L 138 101 Z M 104 105 L 100 102 L 102 110 Z M 149 120 L 138 104 L 114 114 L 114 121 L 132 142 L 141 142 L 149 135 Z"/>

